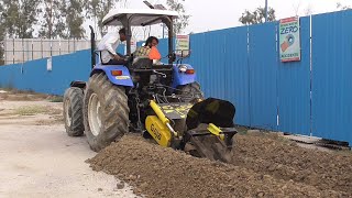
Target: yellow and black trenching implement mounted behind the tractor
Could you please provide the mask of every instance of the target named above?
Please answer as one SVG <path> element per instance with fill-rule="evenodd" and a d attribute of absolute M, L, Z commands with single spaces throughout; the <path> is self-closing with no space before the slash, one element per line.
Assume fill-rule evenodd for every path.
<path fill-rule="evenodd" d="M 230 162 L 232 138 L 237 133 L 232 103 L 213 98 L 196 105 L 158 105 L 151 100 L 150 107 L 153 113 L 146 117 L 145 129 L 157 144 L 180 148 L 195 156 Z M 207 125 L 204 128 L 201 124 Z"/>

